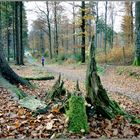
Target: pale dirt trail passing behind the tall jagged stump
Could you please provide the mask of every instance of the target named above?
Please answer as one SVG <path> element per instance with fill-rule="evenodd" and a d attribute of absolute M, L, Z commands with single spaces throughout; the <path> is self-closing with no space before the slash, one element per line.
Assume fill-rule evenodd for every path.
<path fill-rule="evenodd" d="M 48 72 L 54 74 L 61 73 L 62 77 L 72 81 L 83 81 L 86 76 L 86 66 L 63 66 L 63 65 L 47 65 L 44 67 Z M 140 102 L 140 80 L 132 77 L 118 75 L 116 66 L 108 66 L 105 74 L 101 75 L 101 81 L 104 88 L 111 94 L 121 94 Z"/>

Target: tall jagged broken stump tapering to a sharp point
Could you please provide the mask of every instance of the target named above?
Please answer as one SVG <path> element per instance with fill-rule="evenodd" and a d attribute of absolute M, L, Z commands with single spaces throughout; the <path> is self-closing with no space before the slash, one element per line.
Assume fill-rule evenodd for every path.
<path fill-rule="evenodd" d="M 100 77 L 97 74 L 95 61 L 94 36 L 90 46 L 90 58 L 86 73 L 86 100 L 95 107 L 96 113 L 101 114 L 108 119 L 114 118 L 116 115 L 124 115 L 115 101 L 111 101 L 103 88 Z"/>

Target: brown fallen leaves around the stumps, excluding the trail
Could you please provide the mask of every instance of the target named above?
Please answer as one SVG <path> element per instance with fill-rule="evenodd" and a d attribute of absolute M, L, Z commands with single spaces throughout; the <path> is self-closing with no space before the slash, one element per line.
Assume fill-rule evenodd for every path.
<path fill-rule="evenodd" d="M 27 69 L 26 69 L 27 71 Z M 28 71 L 28 74 L 31 70 Z M 22 73 L 23 74 L 23 73 Z M 19 85 L 19 88 L 29 95 L 44 100 L 46 91 L 51 89 L 55 80 L 32 81 L 38 88 L 29 89 Z M 64 79 L 65 87 L 73 91 L 75 82 Z M 85 93 L 84 84 L 80 83 L 80 89 Z M 12 100 L 10 93 L 0 87 L 0 138 L 140 138 L 140 125 L 131 124 L 122 116 L 114 120 L 102 118 L 102 116 L 88 119 L 90 131 L 88 134 L 75 134 L 68 132 L 68 118 L 59 110 L 48 110 L 45 114 L 33 116 L 32 112 L 19 106 L 17 101 Z M 126 96 L 109 94 L 127 112 L 140 118 L 140 106 Z M 52 107 L 54 103 L 52 102 Z"/>

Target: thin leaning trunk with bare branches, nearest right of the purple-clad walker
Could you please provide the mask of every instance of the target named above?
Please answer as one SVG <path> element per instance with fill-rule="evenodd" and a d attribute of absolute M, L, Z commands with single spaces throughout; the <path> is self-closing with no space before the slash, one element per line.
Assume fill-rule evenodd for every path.
<path fill-rule="evenodd" d="M 46 1 L 46 8 L 47 8 L 47 22 L 48 22 L 48 29 L 49 29 L 49 56 L 52 59 L 52 37 L 51 37 L 51 24 L 50 24 L 50 11 L 48 1 Z"/>

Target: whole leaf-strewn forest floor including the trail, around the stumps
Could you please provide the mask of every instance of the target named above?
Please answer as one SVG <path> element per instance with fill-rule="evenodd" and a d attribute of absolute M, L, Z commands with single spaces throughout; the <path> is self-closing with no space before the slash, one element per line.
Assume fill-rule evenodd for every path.
<path fill-rule="evenodd" d="M 29 89 L 19 85 L 24 92 L 44 99 L 48 90 L 61 73 L 65 88 L 72 92 L 75 81 L 79 80 L 80 89 L 85 93 L 86 65 L 45 65 L 29 64 L 11 65 L 16 73 L 24 77 L 54 75 L 54 80 L 34 81 L 38 88 Z M 103 66 L 104 67 L 104 66 Z M 100 75 L 108 95 L 116 100 L 128 113 L 140 118 L 140 69 L 132 66 L 105 66 Z M 44 115 L 32 116 L 32 113 L 13 101 L 9 92 L 0 87 L 0 138 L 140 138 L 140 125 L 131 124 L 121 116 L 114 120 L 94 116 L 88 119 L 88 134 L 74 134 L 67 131 L 64 114 L 48 111 Z M 50 125 L 51 124 L 51 125 Z"/>

